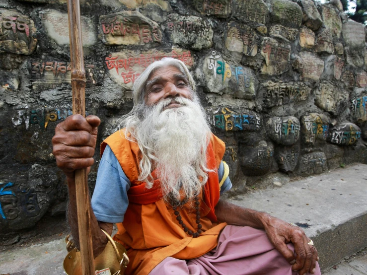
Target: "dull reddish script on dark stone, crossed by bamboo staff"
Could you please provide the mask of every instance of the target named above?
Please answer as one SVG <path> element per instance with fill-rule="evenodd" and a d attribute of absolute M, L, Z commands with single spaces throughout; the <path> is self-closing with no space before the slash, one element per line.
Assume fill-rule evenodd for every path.
<path fill-rule="evenodd" d="M 31 80 L 39 83 L 71 83 L 72 66 L 70 62 L 62 61 L 32 61 L 30 64 Z M 93 75 L 94 65 L 85 65 L 87 83 L 95 84 Z"/>

